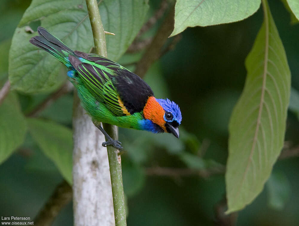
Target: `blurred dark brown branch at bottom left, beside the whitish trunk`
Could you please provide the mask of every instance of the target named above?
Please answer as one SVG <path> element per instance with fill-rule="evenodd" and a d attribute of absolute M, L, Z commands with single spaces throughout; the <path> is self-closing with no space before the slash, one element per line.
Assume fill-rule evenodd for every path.
<path fill-rule="evenodd" d="M 50 226 L 60 210 L 72 200 L 72 188 L 63 181 L 57 186 L 54 193 L 33 220 L 34 225 Z"/>

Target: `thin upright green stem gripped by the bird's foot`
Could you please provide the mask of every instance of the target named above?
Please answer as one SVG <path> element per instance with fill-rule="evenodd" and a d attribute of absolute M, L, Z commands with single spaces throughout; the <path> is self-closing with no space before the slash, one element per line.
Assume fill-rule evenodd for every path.
<path fill-rule="evenodd" d="M 96 53 L 107 57 L 106 39 L 99 8 L 96 0 L 86 0 Z M 112 139 L 117 139 L 115 126 L 103 123 L 103 128 Z M 126 225 L 126 211 L 123 196 L 123 179 L 121 174 L 121 160 L 119 151 L 112 145 L 107 146 L 110 177 L 112 184 L 112 196 L 114 206 L 115 225 Z"/>

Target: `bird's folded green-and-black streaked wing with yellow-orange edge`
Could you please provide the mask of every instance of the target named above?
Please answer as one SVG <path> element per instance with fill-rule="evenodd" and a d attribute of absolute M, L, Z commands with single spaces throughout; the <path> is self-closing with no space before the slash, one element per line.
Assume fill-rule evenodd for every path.
<path fill-rule="evenodd" d="M 99 57 L 98 55 L 94 55 Z M 119 94 L 113 85 L 114 70 L 103 65 L 98 65 L 94 62 L 87 63 L 86 59 L 78 59 L 69 56 L 71 64 L 76 69 L 83 83 L 89 89 L 91 94 L 115 115 L 124 116 L 123 104 Z M 106 59 L 106 58 L 103 58 Z M 86 61 L 86 62 L 82 62 Z M 112 61 L 113 62 L 113 61 Z M 107 62 L 108 63 L 108 62 Z M 114 63 L 114 62 L 113 62 Z M 116 64 L 116 63 L 115 63 Z M 117 65 L 111 65 L 113 67 Z M 122 105 L 122 106 L 121 106 Z"/>

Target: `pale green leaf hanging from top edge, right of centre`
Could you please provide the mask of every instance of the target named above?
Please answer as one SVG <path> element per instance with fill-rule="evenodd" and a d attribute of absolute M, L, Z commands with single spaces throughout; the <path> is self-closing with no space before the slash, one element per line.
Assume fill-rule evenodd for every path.
<path fill-rule="evenodd" d="M 170 36 L 187 27 L 209 26 L 240 21 L 260 7 L 260 0 L 177 0 L 174 29 Z"/>

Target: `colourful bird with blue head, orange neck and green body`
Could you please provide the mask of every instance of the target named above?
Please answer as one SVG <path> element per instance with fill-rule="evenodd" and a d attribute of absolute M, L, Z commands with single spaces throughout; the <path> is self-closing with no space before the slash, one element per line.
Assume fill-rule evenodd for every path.
<path fill-rule="evenodd" d="M 68 78 L 77 88 L 83 108 L 106 137 L 103 146 L 121 149 L 100 126 L 100 122 L 172 133 L 179 138 L 182 115 L 179 106 L 168 99 L 156 99 L 149 85 L 138 75 L 103 56 L 73 51 L 43 27 L 30 43 L 44 49 L 68 68 Z"/>

